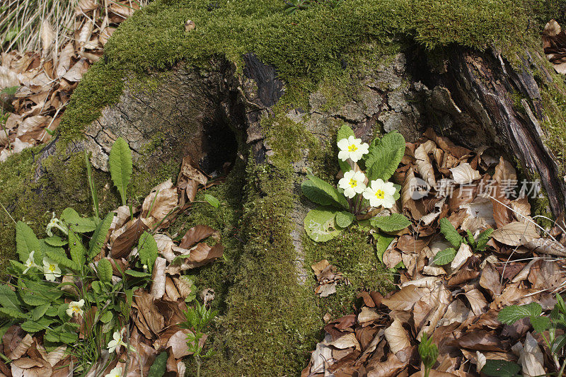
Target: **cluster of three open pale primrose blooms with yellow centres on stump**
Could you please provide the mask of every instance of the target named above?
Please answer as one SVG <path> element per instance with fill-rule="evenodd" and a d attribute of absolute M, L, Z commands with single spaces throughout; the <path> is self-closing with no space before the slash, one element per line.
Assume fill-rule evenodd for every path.
<path fill-rule="evenodd" d="M 362 139 L 355 139 L 353 136 L 341 139 L 337 143 L 340 151 L 338 158 L 357 163 L 366 153 L 369 153 L 369 145 L 362 143 Z M 371 207 L 391 208 L 395 204 L 395 187 L 392 182 L 384 182 L 381 178 L 372 180 L 367 185 L 368 179 L 361 170 L 350 170 L 344 173 L 344 178 L 338 181 L 338 187 L 344 190 L 344 195 L 352 199 L 358 194 L 369 200 Z"/>

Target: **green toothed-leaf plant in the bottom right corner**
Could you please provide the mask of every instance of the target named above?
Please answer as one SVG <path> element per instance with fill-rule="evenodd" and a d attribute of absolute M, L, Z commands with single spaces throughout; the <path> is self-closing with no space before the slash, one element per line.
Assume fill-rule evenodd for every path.
<path fill-rule="evenodd" d="M 527 305 L 511 305 L 502 308 L 497 315 L 499 322 L 505 325 L 513 325 L 516 321 L 529 318 L 533 329 L 543 338 L 546 346 L 552 354 L 557 376 L 562 376 L 566 368 L 566 359 L 560 364 L 562 348 L 566 345 L 566 305 L 560 294 L 556 295 L 556 305 L 549 315 L 543 315 L 543 308 L 538 303 Z M 560 332 L 557 330 L 560 329 Z M 546 335 L 548 332 L 548 336 Z M 562 333 L 561 333 L 562 332 Z M 559 335 L 560 334 L 560 335 Z M 487 360 L 482 372 L 487 376 L 518 376 L 521 366 L 504 360 Z"/>

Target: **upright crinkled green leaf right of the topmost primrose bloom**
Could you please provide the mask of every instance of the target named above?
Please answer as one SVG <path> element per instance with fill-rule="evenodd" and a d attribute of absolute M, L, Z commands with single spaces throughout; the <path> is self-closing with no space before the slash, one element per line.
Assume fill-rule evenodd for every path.
<path fill-rule="evenodd" d="M 369 180 L 388 180 L 398 168 L 405 154 L 405 138 L 398 132 L 389 132 L 371 148 L 366 157 L 366 173 Z"/>

